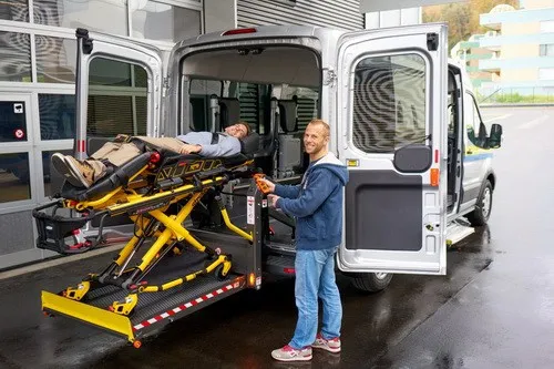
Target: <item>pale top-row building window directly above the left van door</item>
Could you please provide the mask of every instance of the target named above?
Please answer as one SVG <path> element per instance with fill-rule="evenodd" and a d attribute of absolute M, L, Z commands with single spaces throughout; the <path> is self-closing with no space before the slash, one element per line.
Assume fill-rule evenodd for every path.
<path fill-rule="evenodd" d="M 129 35 L 127 0 L 33 0 L 35 23 Z"/>

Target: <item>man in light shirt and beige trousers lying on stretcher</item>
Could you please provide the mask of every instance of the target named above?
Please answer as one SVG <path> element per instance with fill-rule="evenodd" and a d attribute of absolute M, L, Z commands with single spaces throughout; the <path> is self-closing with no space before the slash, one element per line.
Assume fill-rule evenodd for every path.
<path fill-rule="evenodd" d="M 136 136 L 140 141 L 155 147 L 181 154 L 199 154 L 206 157 L 233 156 L 240 152 L 240 141 L 250 134 L 248 123 L 238 122 L 225 132 L 189 132 L 175 137 Z M 144 152 L 144 145 L 133 143 L 133 137 L 119 135 L 114 142 L 105 143 L 99 151 L 84 161 L 55 153 L 53 167 L 73 186 L 89 188 L 105 176 L 111 167 L 125 164 Z M 142 146 L 142 147 L 141 147 Z"/>

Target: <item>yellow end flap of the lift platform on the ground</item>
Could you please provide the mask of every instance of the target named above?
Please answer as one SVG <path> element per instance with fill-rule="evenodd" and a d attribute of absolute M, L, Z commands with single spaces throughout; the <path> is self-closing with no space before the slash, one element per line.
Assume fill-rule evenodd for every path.
<path fill-rule="evenodd" d="M 45 290 L 42 291 L 42 309 L 92 324 L 96 327 L 123 335 L 131 342 L 134 341 L 133 326 L 131 325 L 131 320 L 125 316 L 71 300 Z"/>

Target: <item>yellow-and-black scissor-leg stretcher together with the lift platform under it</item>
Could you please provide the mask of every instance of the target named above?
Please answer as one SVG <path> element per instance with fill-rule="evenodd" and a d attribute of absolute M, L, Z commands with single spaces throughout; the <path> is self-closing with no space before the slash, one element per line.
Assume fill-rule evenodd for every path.
<path fill-rule="evenodd" d="M 245 273 L 233 271 L 233 255 L 225 245 L 207 245 L 183 224 L 208 191 L 217 192 L 232 180 L 256 174 L 252 152 L 257 148 L 257 136 L 250 134 L 240 154 L 216 158 L 148 146 L 90 188 L 65 182 L 60 198 L 33 211 L 39 248 L 60 254 L 93 248 L 93 242 L 75 248 L 64 239 L 99 217 L 99 239 L 105 217 L 126 214 L 134 232 L 102 271 L 89 274 L 58 294 L 42 291 L 43 311 L 105 328 L 140 347 L 141 330 L 152 319 L 163 320 L 187 308 L 192 311 L 199 303 L 245 287 Z M 254 232 L 234 225 L 220 197 L 216 198 L 227 228 L 252 245 Z"/>

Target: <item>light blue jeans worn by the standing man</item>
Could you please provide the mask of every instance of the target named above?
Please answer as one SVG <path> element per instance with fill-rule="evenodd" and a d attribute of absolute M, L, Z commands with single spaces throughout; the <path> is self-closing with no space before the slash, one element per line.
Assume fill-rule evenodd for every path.
<path fill-rule="evenodd" d="M 298 321 L 288 344 L 300 349 L 314 344 L 318 325 L 318 297 L 324 303 L 321 335 L 325 339 L 340 337 L 342 305 L 335 280 L 335 253 L 338 247 L 296 253 L 295 296 Z"/>

